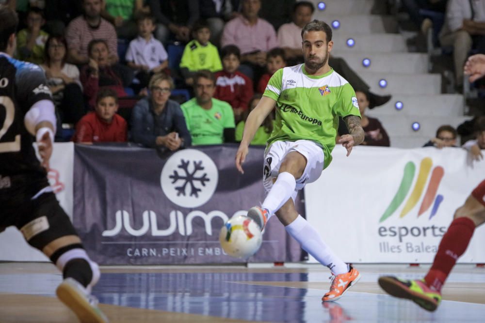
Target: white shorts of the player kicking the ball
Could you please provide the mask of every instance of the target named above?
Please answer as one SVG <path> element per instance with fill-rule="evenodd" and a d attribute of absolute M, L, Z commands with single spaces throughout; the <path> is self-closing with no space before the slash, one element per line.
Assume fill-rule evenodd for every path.
<path fill-rule="evenodd" d="M 307 159 L 305 171 L 296 179 L 295 191 L 291 195 L 294 201 L 298 191 L 305 187 L 305 184 L 315 182 L 322 174 L 324 155 L 323 149 L 310 140 L 275 141 L 264 154 L 263 186 L 266 194 L 278 177 L 281 162 L 290 152 L 298 152 Z"/>

